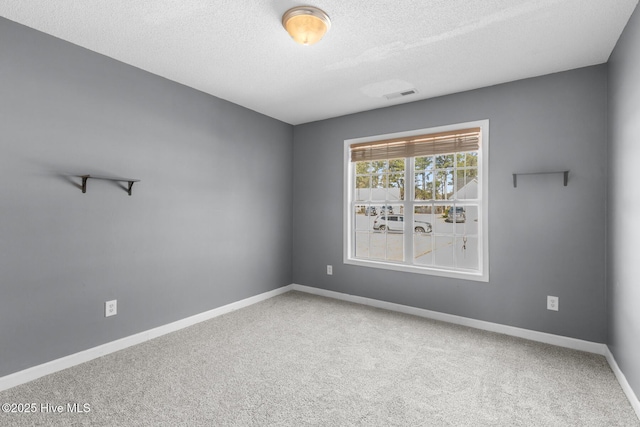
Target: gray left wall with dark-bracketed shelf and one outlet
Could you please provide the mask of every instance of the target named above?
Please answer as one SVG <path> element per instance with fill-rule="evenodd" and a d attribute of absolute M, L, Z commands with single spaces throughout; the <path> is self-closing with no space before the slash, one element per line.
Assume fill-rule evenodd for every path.
<path fill-rule="evenodd" d="M 290 284 L 292 132 L 0 18 L 0 376 Z"/>

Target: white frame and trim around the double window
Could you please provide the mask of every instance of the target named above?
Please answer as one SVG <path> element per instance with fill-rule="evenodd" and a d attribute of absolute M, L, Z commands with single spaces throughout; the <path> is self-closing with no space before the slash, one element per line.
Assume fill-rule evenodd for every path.
<path fill-rule="evenodd" d="M 408 262 L 393 262 L 393 261 L 380 261 L 370 259 L 360 259 L 354 257 L 354 224 L 352 215 L 352 197 L 354 192 L 354 173 L 353 168 L 355 163 L 351 161 L 350 147 L 352 144 L 379 141 L 392 138 L 405 138 L 415 135 L 424 135 L 439 132 L 455 131 L 458 129 L 466 129 L 472 127 L 480 128 L 480 147 L 478 150 L 478 177 L 480 178 L 480 185 L 478 186 L 478 272 L 460 271 L 455 269 L 446 269 L 439 267 L 421 266 L 411 264 Z M 361 267 L 373 267 L 382 268 L 386 270 L 396 270 L 410 273 L 427 274 L 440 277 L 449 277 L 456 279 L 474 280 L 480 282 L 489 281 L 489 224 L 488 224 L 488 210 L 489 210 L 489 120 L 478 120 L 466 123 L 456 123 L 446 126 L 431 127 L 426 129 L 418 129 L 408 132 L 396 132 L 385 135 L 374 135 L 363 138 L 347 139 L 344 141 L 344 209 L 343 209 L 343 261 L 345 264 L 357 265 Z M 409 170 L 408 164 L 406 167 Z M 411 171 L 411 178 L 413 181 L 413 171 Z M 405 185 L 407 193 L 405 194 L 405 203 L 412 203 L 408 194 L 413 194 L 414 182 L 411 185 Z M 413 235 L 413 233 L 407 233 L 407 235 Z M 411 240 L 407 238 L 406 240 Z M 409 252 L 406 252 L 409 250 Z M 405 260 L 413 259 L 413 244 L 405 244 Z"/>

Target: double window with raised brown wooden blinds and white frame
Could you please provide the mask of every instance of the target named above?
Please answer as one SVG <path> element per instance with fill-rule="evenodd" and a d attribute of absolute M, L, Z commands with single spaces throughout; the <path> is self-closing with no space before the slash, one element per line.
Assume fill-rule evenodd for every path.
<path fill-rule="evenodd" d="M 488 281 L 488 128 L 345 141 L 345 263 Z"/>

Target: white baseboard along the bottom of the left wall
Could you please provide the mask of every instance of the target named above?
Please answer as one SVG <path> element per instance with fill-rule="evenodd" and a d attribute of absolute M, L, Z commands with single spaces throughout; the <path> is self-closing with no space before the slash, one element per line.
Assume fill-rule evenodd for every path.
<path fill-rule="evenodd" d="M 272 291 L 265 292 L 250 298 L 246 298 L 241 301 L 236 301 L 222 307 L 214 308 L 213 310 L 205 311 L 204 313 L 196 314 L 194 316 L 177 320 L 175 322 L 159 326 L 157 328 L 149 329 L 135 335 L 130 335 L 116 341 L 111 341 L 106 344 L 81 351 L 79 353 L 61 357 L 60 359 L 55 359 L 50 362 L 43 363 L 42 365 L 37 365 L 23 371 L 0 377 L 0 391 L 7 390 L 11 387 L 33 381 L 45 375 L 67 369 L 84 362 L 88 362 L 98 357 L 105 356 L 109 353 L 123 350 L 136 344 L 141 344 L 145 341 L 149 341 L 170 332 L 184 329 L 188 326 L 195 325 L 205 320 L 213 319 L 214 317 L 230 313 L 240 308 L 248 307 L 260 301 L 264 301 L 276 295 L 288 292 L 291 290 L 291 288 L 292 285 L 283 286 L 281 288 L 274 289 Z"/>

